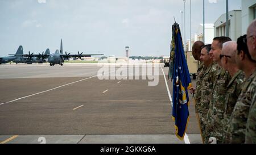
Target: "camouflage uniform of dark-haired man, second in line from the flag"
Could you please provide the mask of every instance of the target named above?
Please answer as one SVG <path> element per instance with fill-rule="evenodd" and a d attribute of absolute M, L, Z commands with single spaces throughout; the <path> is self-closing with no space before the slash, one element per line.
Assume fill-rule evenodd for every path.
<path fill-rule="evenodd" d="M 202 130 L 202 136 L 204 143 L 206 141 L 205 135 L 205 120 L 209 108 L 210 95 L 212 94 L 213 89 L 213 77 L 212 73 L 216 72 L 216 63 L 210 64 L 206 69 L 203 77 L 201 78 L 201 99 L 200 99 L 200 108 L 199 108 L 199 118 Z"/>

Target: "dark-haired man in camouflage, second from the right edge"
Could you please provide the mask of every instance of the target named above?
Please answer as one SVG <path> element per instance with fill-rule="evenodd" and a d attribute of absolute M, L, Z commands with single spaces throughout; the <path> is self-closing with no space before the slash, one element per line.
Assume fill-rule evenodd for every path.
<path fill-rule="evenodd" d="M 236 63 L 238 68 L 245 73 L 246 82 L 242 84 L 241 94 L 226 125 L 226 143 L 245 143 L 246 122 L 255 96 L 253 81 L 256 80 L 256 62 L 249 54 L 246 35 L 237 39 Z"/>

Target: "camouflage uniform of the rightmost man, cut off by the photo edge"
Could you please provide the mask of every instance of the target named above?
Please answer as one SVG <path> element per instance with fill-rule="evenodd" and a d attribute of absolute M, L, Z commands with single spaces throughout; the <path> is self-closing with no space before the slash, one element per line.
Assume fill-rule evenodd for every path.
<path fill-rule="evenodd" d="M 256 72 L 256 71 L 255 71 Z M 251 95 L 251 106 L 246 123 L 245 143 L 256 143 L 256 76 L 247 89 Z"/>

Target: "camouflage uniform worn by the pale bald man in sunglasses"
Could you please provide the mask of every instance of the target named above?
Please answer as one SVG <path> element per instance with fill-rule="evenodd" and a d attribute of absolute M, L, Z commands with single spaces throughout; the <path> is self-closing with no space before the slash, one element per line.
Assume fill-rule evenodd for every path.
<path fill-rule="evenodd" d="M 228 123 L 230 120 L 230 116 L 232 115 L 232 112 L 234 110 L 234 106 L 237 103 L 237 99 L 241 93 L 242 90 L 242 84 L 245 81 L 245 74 L 239 70 L 232 79 L 230 80 L 226 92 L 226 98 L 225 98 L 225 111 L 224 111 L 224 119 L 222 120 L 223 124 L 223 142 L 229 143 L 228 141 Z"/>

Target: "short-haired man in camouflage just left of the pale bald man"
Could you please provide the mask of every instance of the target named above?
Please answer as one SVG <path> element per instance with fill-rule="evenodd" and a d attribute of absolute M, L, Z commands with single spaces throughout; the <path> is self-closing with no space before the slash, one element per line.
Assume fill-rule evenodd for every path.
<path fill-rule="evenodd" d="M 226 41 L 231 41 L 231 39 L 229 37 L 214 37 L 210 51 L 213 61 L 217 62 L 218 66 L 216 72 L 212 73 L 214 84 L 207 113 L 205 134 L 207 134 L 207 139 L 215 137 L 217 143 L 222 143 L 223 125 L 221 122 L 224 118 L 227 86 L 231 79 L 229 73 L 221 67 L 220 60 L 222 44 Z"/>

